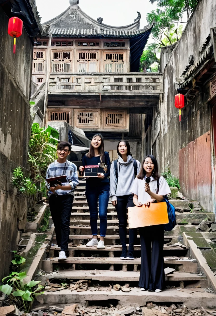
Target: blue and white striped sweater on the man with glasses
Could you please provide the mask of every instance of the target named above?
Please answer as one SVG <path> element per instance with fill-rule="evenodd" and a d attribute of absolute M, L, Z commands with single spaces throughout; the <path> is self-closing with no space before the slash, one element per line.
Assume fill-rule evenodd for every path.
<path fill-rule="evenodd" d="M 68 179 L 68 182 L 62 183 L 62 185 L 70 185 L 71 190 L 67 190 L 67 191 L 56 190 L 56 193 L 58 195 L 71 194 L 74 196 L 75 187 L 79 184 L 76 165 L 73 162 L 68 161 L 68 160 L 66 160 L 66 162 L 64 163 L 60 163 L 60 162 L 57 162 L 57 160 L 55 160 L 48 166 L 47 172 L 46 172 L 46 179 L 59 177 L 62 175 L 66 175 Z M 48 189 L 50 188 L 50 185 L 48 185 L 47 182 L 46 182 L 46 186 Z M 54 194 L 54 193 L 49 191 L 49 194 Z"/>

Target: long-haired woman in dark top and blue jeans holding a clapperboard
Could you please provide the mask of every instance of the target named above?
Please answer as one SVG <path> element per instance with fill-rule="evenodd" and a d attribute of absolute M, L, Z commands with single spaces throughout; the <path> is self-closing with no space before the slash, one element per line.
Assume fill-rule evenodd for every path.
<path fill-rule="evenodd" d="M 107 228 L 107 206 L 109 202 L 110 183 L 107 177 L 110 176 L 110 157 L 107 151 L 104 151 L 104 138 L 96 134 L 92 138 L 89 152 L 82 157 L 83 172 L 85 166 L 99 166 L 105 163 L 106 173 L 98 173 L 97 177 L 86 179 L 86 199 L 90 212 L 90 225 L 93 238 L 87 243 L 87 247 L 97 246 L 98 249 L 104 249 L 104 237 Z M 98 242 L 98 202 L 100 218 L 100 240 Z"/>

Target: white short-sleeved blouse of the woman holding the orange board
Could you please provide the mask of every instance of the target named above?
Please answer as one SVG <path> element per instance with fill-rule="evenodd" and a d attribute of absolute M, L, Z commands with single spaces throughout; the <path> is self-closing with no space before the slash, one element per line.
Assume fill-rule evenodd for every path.
<path fill-rule="evenodd" d="M 145 179 L 138 179 L 135 178 L 133 187 L 131 189 L 131 193 L 136 194 L 138 196 L 138 202 L 141 202 L 142 204 L 145 204 L 149 199 L 151 199 L 151 196 L 145 191 Z M 155 180 L 153 177 L 151 177 L 151 181 L 149 183 L 150 190 L 154 193 L 157 193 L 157 180 Z M 164 177 L 160 177 L 159 179 L 159 195 L 168 195 L 171 194 L 170 188 Z"/>

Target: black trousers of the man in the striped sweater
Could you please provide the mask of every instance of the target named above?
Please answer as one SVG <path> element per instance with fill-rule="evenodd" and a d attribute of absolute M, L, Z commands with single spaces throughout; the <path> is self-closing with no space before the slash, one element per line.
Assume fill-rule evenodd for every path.
<path fill-rule="evenodd" d="M 49 203 L 52 220 L 55 226 L 57 245 L 61 251 L 68 250 L 68 240 L 70 234 L 70 215 L 74 197 L 71 194 L 52 194 Z"/>

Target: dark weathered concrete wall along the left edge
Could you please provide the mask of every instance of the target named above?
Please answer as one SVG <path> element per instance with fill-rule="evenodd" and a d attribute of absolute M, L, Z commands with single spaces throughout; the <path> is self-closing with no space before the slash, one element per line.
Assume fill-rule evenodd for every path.
<path fill-rule="evenodd" d="M 18 229 L 25 228 L 32 200 L 16 196 L 10 178 L 19 165 L 27 172 L 30 137 L 30 83 L 33 43 L 23 27 L 16 41 L 8 35 L 8 18 L 0 7 L 0 279 L 9 272 Z"/>

